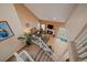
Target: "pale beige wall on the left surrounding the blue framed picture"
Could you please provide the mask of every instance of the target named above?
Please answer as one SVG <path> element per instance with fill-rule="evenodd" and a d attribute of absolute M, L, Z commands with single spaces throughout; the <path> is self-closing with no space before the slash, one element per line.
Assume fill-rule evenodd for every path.
<path fill-rule="evenodd" d="M 14 52 L 23 46 L 18 36 L 22 34 L 22 26 L 13 4 L 0 4 L 0 21 L 8 21 L 14 36 L 0 42 L 0 61 L 7 61 Z"/>

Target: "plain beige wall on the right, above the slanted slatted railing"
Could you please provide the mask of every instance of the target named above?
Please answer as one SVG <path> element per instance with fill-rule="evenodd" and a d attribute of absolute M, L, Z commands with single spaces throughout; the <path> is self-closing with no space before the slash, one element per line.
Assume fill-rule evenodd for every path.
<path fill-rule="evenodd" d="M 68 40 L 73 41 L 87 23 L 87 4 L 78 4 L 66 23 Z"/>

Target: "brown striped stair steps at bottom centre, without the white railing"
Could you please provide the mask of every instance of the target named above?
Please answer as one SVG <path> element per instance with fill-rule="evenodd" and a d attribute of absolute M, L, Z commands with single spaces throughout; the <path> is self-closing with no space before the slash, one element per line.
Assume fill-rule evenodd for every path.
<path fill-rule="evenodd" d="M 52 58 L 52 54 L 40 48 L 39 53 L 34 57 L 35 62 L 54 62 Z"/>

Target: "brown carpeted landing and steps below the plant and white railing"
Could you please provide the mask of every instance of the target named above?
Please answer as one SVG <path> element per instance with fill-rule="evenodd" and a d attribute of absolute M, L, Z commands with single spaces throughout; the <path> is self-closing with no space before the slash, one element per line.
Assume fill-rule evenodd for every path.
<path fill-rule="evenodd" d="M 34 62 L 54 62 L 52 57 L 53 54 L 45 52 L 35 44 L 26 45 L 18 53 L 21 53 L 22 51 L 26 51 Z M 14 55 L 8 59 L 8 62 L 15 62 L 15 61 L 17 59 Z"/>

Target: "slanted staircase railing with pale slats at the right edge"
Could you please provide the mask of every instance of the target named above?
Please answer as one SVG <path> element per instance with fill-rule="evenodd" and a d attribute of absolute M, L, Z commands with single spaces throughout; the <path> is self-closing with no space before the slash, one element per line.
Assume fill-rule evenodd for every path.
<path fill-rule="evenodd" d="M 72 44 L 74 44 L 75 47 L 72 47 L 75 50 L 73 55 L 76 55 L 74 56 L 74 61 L 87 62 L 87 24 L 72 42 Z"/>

